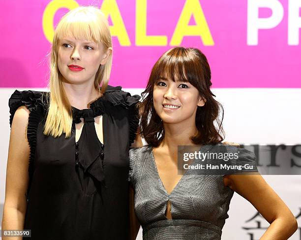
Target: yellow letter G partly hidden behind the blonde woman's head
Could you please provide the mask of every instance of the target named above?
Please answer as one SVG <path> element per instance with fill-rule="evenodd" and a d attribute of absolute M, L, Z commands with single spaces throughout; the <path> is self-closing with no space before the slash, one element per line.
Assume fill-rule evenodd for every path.
<path fill-rule="evenodd" d="M 76 7 L 78 7 L 78 3 L 75 0 L 52 0 L 50 1 L 43 14 L 43 32 L 47 38 L 48 41 L 52 42 L 53 35 L 54 35 L 54 26 L 53 26 L 53 20 L 56 12 L 60 8 L 68 8 L 69 10 L 72 10 Z"/>

